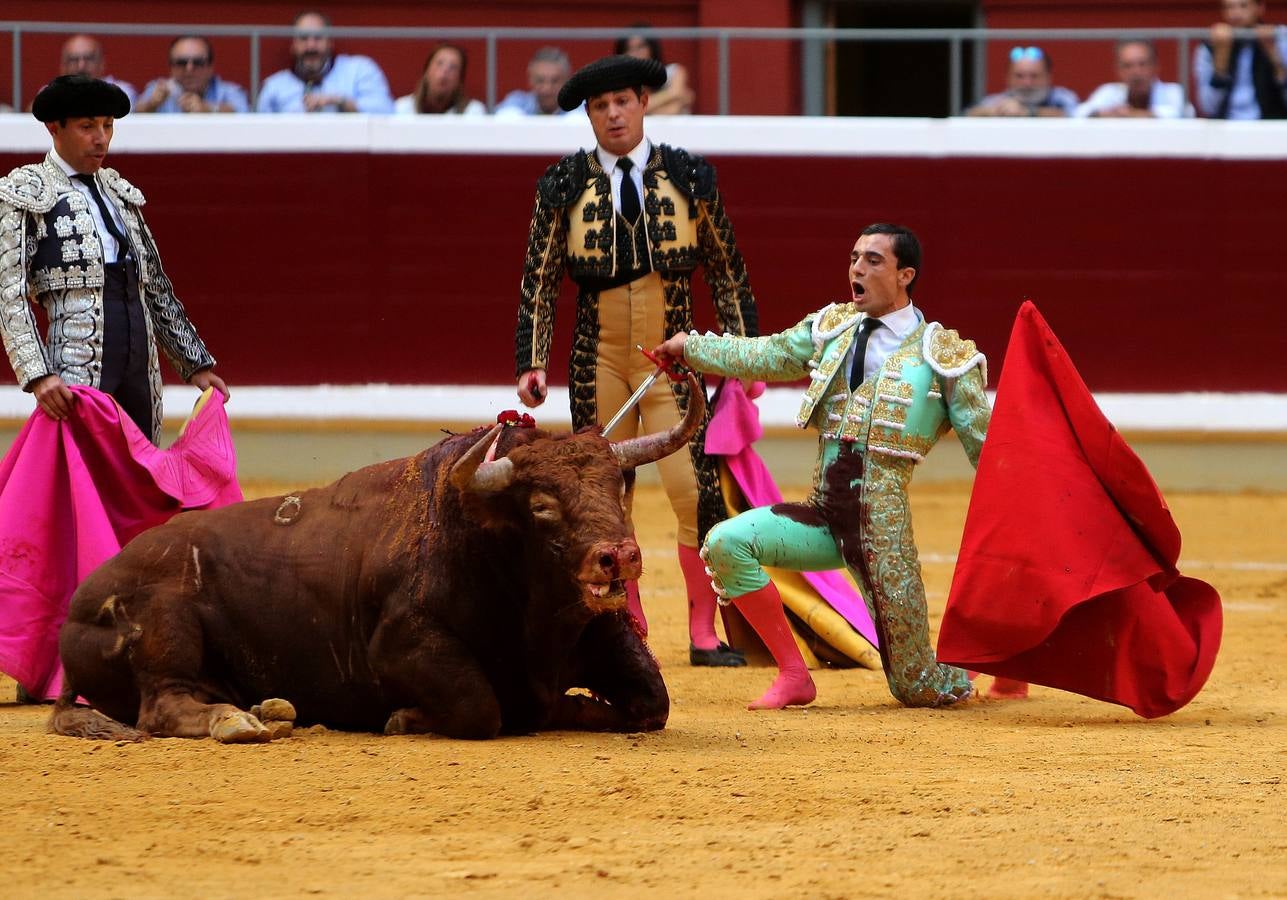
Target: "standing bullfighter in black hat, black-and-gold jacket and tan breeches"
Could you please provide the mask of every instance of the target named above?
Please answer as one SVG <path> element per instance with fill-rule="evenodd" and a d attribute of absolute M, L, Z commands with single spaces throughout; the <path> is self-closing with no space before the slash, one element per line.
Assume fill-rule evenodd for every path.
<path fill-rule="evenodd" d="M 654 59 L 607 57 L 568 80 L 559 106 L 586 104 L 597 147 L 565 156 L 537 183 L 524 265 L 516 373 L 529 407 L 546 397 L 555 301 L 564 270 L 577 283 L 577 322 L 569 364 L 575 427 L 606 424 L 653 372 L 634 350 L 692 327 L 692 270 L 701 265 L 719 330 L 755 335 L 755 300 L 716 187 L 714 167 L 677 147 L 644 136 L 645 88 L 665 82 Z M 677 422 L 687 386 L 659 380 L 609 438 L 651 433 Z M 694 666 L 744 666 L 719 641 L 716 596 L 698 555 L 701 536 L 725 518 L 716 462 L 703 452 L 705 426 L 689 453 L 658 464 L 677 519 L 677 552 L 689 595 L 689 658 Z M 642 624 L 637 586 L 627 587 Z"/>

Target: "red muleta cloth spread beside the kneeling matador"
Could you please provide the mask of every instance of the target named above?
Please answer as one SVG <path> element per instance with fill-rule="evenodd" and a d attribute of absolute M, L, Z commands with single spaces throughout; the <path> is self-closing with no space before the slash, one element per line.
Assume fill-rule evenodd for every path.
<path fill-rule="evenodd" d="M 970 496 L 938 658 L 1165 716 L 1201 690 L 1220 596 L 1176 570 L 1144 464 L 1024 303 Z"/>

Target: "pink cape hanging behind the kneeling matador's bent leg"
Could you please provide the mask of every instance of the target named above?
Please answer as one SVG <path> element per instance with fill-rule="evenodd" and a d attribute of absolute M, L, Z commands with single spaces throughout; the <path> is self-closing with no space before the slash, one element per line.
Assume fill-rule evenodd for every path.
<path fill-rule="evenodd" d="M 755 397 L 763 393 L 763 385 L 759 382 L 757 385 Z M 755 408 L 753 398 L 746 395 L 741 381 L 725 379 L 716 397 L 710 424 L 707 425 L 705 449 L 709 455 L 725 457 L 728 471 L 752 506 L 772 506 L 782 502 L 782 492 L 777 489 L 768 467 L 753 448 L 763 434 L 759 409 Z M 878 645 L 876 628 L 867 614 L 866 604 L 839 572 L 802 572 L 801 576 L 871 646 Z"/>

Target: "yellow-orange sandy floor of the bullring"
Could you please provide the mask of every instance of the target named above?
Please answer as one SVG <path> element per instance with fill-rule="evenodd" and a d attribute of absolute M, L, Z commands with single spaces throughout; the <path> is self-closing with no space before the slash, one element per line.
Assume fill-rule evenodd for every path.
<path fill-rule="evenodd" d="M 967 496 L 915 494 L 931 560 Z M 1225 636 L 1166 718 L 1042 688 L 903 709 L 867 671 L 746 712 L 771 673 L 687 666 L 673 530 L 645 489 L 664 731 L 115 745 L 46 735 L 48 708 L 3 680 L 0 895 L 1287 896 L 1287 496 L 1170 501 Z M 950 579 L 925 565 L 936 613 Z"/>

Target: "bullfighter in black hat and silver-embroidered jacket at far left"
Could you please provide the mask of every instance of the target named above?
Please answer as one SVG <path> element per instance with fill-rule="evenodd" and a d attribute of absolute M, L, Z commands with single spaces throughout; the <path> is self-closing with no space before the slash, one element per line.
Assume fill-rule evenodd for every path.
<path fill-rule="evenodd" d="M 157 345 L 193 386 L 228 388 L 161 268 L 143 193 L 103 167 L 113 121 L 129 111 L 120 88 L 86 75 L 36 95 L 32 115 L 54 145 L 0 178 L 0 335 L 18 384 L 51 418 L 71 413 L 67 385 L 90 385 L 157 443 Z M 45 308 L 48 341 L 32 303 Z"/>

